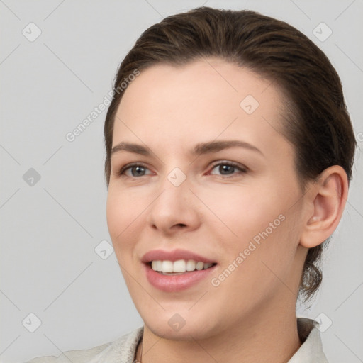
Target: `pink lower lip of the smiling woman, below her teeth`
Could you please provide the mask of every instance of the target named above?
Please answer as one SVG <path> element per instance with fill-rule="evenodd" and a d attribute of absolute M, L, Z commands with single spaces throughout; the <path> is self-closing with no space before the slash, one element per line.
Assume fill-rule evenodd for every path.
<path fill-rule="evenodd" d="M 180 275 L 163 275 L 154 271 L 149 264 L 143 264 L 145 267 L 147 280 L 152 286 L 167 292 L 175 292 L 189 289 L 199 281 L 206 279 L 217 265 L 209 269 L 195 270 Z"/>

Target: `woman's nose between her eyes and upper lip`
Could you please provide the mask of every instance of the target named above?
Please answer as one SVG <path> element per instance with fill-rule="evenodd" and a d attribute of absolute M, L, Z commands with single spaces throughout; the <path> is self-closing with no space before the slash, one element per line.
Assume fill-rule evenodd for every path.
<path fill-rule="evenodd" d="M 164 179 L 157 198 L 148 209 L 147 223 L 152 229 L 171 236 L 181 230 L 199 228 L 201 213 L 198 199 L 189 187 L 188 179 L 179 186 L 175 186 L 167 178 Z"/>

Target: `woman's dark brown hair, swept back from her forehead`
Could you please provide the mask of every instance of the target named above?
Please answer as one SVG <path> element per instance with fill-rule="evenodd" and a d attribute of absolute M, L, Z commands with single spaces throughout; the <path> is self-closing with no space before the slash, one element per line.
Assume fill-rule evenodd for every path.
<path fill-rule="evenodd" d="M 141 72 L 157 63 L 186 65 L 204 57 L 247 67 L 284 91 L 289 106 L 283 133 L 295 147 L 296 171 L 303 187 L 332 165 L 340 165 L 348 180 L 352 178 L 356 141 L 342 84 L 328 57 L 284 21 L 255 11 L 201 7 L 150 26 L 123 59 L 104 125 L 107 185 L 113 123 L 123 96 L 117 90 L 123 80 L 135 69 Z M 299 289 L 306 300 L 320 286 L 321 252 L 328 240 L 308 250 Z"/>

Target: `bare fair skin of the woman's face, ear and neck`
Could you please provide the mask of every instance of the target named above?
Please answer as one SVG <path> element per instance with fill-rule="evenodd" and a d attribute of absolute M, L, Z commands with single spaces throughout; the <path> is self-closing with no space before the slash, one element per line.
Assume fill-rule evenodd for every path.
<path fill-rule="evenodd" d="M 240 106 L 247 95 L 259 102 L 251 114 Z M 302 191 L 294 146 L 281 134 L 283 100 L 267 79 L 212 58 L 152 66 L 125 90 L 113 146 L 137 143 L 152 155 L 113 154 L 107 221 L 145 323 L 143 362 L 287 362 L 300 347 L 295 308 L 303 262 L 308 247 L 339 222 L 347 180 L 341 167 L 330 167 Z M 259 151 L 191 154 L 213 140 Z M 140 176 L 135 168 L 118 174 L 132 162 L 144 165 Z M 223 174 L 223 162 L 242 171 Z M 186 176 L 180 186 L 167 179 L 176 167 Z M 216 261 L 211 277 L 218 277 L 270 223 L 272 233 L 219 286 L 207 278 L 164 292 L 146 279 L 141 257 L 176 248 Z M 168 324 L 175 313 L 186 322 L 179 331 Z"/>

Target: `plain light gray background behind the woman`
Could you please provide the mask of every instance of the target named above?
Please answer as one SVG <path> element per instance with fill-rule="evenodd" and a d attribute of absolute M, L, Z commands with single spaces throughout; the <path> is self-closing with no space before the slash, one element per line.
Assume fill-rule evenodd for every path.
<path fill-rule="evenodd" d="M 257 10 L 308 35 L 340 74 L 362 147 L 362 0 L 0 1 L 1 362 L 93 347 L 142 325 L 115 254 L 102 259 L 94 250 L 110 242 L 106 111 L 72 143 L 65 135 L 104 100 L 143 30 L 202 5 Z M 36 34 L 30 22 L 42 31 L 34 41 L 22 33 Z M 313 33 L 321 22 L 333 31 L 324 41 Z M 320 38 L 328 34 L 321 29 Z M 39 181 L 26 174 L 30 168 Z M 358 151 L 347 208 L 325 252 L 323 286 L 310 308 L 298 307 L 298 315 L 325 314 L 332 363 L 363 362 L 362 170 Z M 34 333 L 30 313 L 42 322 Z"/>

